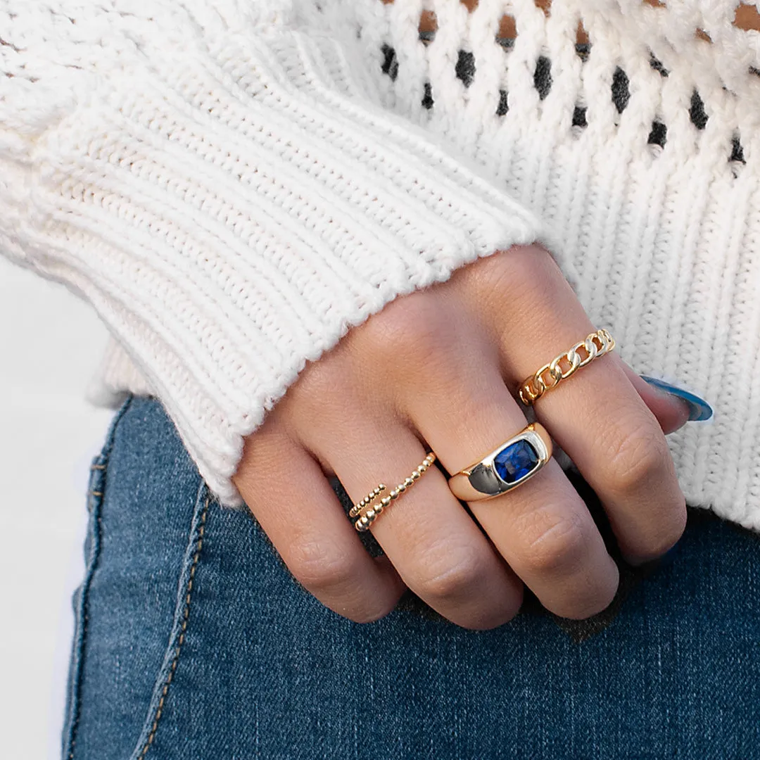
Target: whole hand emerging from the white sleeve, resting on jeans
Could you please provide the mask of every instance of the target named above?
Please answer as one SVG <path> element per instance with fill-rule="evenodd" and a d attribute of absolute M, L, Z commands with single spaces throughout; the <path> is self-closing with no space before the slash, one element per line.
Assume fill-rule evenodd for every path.
<path fill-rule="evenodd" d="M 452 622 L 502 625 L 523 584 L 559 616 L 603 610 L 618 569 L 555 459 L 518 489 L 472 502 L 431 467 L 372 524 L 373 559 L 338 502 L 404 480 L 432 449 L 448 473 L 524 428 L 518 385 L 592 325 L 549 254 L 499 251 L 397 298 L 310 364 L 249 437 L 235 483 L 295 578 L 357 622 L 406 587 Z M 665 432 L 686 422 L 613 351 L 541 397 L 538 420 L 600 497 L 632 562 L 679 539 L 686 505 Z M 482 529 L 482 530 L 481 530 Z"/>

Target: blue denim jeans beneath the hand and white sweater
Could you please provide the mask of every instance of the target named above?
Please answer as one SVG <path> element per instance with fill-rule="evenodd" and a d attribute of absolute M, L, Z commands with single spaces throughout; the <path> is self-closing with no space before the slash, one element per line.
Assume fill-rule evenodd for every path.
<path fill-rule="evenodd" d="M 410 592 L 367 625 L 326 609 L 154 400 L 116 415 L 88 508 L 64 758 L 760 758 L 760 537 L 706 511 L 620 561 L 600 615 L 528 594 L 475 632 Z"/>

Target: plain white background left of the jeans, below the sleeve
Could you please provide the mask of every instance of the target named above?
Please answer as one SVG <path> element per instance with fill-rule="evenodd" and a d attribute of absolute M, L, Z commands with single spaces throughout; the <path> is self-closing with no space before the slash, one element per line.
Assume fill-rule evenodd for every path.
<path fill-rule="evenodd" d="M 105 345 L 89 306 L 0 258 L 3 760 L 60 758 L 87 477 L 111 418 L 85 393 Z"/>

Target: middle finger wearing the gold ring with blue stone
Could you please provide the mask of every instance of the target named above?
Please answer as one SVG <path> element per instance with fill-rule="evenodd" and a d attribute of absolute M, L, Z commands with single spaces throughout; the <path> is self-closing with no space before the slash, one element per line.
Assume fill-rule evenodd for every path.
<path fill-rule="evenodd" d="M 464 357 L 456 368 L 438 366 L 430 375 L 424 389 L 410 389 L 405 408 L 449 473 L 473 464 L 526 426 L 496 356 Z M 470 509 L 548 610 L 579 619 L 613 600 L 617 566 L 555 460 L 502 496 L 470 502 Z"/>

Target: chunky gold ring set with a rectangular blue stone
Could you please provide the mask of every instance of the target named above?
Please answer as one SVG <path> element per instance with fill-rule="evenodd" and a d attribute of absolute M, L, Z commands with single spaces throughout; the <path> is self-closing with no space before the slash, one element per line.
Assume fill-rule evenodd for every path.
<path fill-rule="evenodd" d="M 552 439 L 540 423 L 530 423 L 483 458 L 448 479 L 463 502 L 493 499 L 521 486 L 552 457 Z"/>

